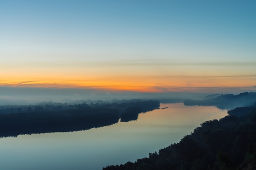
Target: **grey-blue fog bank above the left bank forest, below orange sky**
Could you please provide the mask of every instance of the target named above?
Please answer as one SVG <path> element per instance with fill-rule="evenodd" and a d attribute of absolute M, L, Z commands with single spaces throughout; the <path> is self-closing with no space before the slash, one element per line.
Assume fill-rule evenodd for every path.
<path fill-rule="evenodd" d="M 250 92 L 247 90 L 247 92 Z M 223 94 L 227 94 L 225 92 Z M 238 91 L 239 94 L 242 93 Z M 77 100 L 113 101 L 145 99 L 158 100 L 162 103 L 183 102 L 186 99 L 203 99 L 207 95 L 216 94 L 211 90 L 204 90 L 201 93 L 195 92 L 165 92 L 165 93 L 144 93 L 134 91 L 103 91 L 95 89 L 75 88 L 35 88 L 35 87 L 0 87 L 0 105 L 33 105 L 44 101 L 78 103 Z M 221 94 L 221 93 L 218 93 Z M 97 102 L 97 101 L 96 101 Z"/>

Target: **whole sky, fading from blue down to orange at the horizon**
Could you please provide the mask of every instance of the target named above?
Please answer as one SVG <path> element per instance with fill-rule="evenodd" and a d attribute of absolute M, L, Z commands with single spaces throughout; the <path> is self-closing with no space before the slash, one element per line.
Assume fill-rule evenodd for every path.
<path fill-rule="evenodd" d="M 0 0 L 0 87 L 256 91 L 255 0 Z"/>

